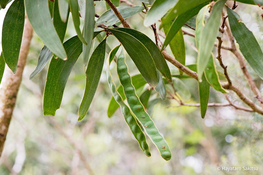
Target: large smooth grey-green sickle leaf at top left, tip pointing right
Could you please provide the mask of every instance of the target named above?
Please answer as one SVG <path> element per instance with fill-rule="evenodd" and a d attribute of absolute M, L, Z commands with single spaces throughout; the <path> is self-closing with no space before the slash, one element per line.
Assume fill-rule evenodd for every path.
<path fill-rule="evenodd" d="M 39 38 L 59 58 L 67 54 L 51 21 L 48 0 L 25 0 L 28 19 Z"/>

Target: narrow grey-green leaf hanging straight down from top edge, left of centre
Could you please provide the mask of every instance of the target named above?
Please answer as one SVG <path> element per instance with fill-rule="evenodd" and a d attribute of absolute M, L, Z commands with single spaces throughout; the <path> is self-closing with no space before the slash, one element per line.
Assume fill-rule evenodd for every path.
<path fill-rule="evenodd" d="M 92 44 L 92 36 L 94 30 L 94 2 L 93 0 L 86 0 L 85 2 L 85 18 L 84 18 L 84 27 L 83 27 L 83 37 L 87 42 L 87 45 L 83 44 L 83 60 L 84 65 L 87 66 L 89 61 L 89 52 Z"/>

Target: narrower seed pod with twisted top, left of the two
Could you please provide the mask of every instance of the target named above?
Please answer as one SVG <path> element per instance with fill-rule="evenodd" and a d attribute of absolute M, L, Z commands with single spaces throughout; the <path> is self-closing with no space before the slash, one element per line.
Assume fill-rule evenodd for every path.
<path fill-rule="evenodd" d="M 122 111 L 124 119 L 125 119 L 126 123 L 128 124 L 131 132 L 133 133 L 135 139 L 138 141 L 138 143 L 139 143 L 141 149 L 143 150 L 144 154 L 146 156 L 150 157 L 151 153 L 149 151 L 149 146 L 146 142 L 145 135 L 144 135 L 143 131 L 141 130 L 140 126 L 138 125 L 133 114 L 130 112 L 129 107 L 124 103 L 122 97 L 118 93 L 116 85 L 113 82 L 112 75 L 110 74 L 110 69 L 109 69 L 110 63 L 112 62 L 112 60 L 113 60 L 116 52 L 118 51 L 119 47 L 120 47 L 120 45 L 114 47 L 112 49 L 112 51 L 110 51 L 110 54 L 109 54 L 109 57 L 107 60 L 108 65 L 106 68 L 106 72 L 107 72 L 107 79 L 108 79 L 110 91 L 112 92 L 112 95 L 115 98 L 115 100 L 117 101 L 117 103 L 120 105 L 120 109 Z"/>

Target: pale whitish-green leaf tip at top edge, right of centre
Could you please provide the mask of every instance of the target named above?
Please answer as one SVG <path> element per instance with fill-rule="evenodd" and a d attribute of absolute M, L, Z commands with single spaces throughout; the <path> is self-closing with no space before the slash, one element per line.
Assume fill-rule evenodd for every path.
<path fill-rule="evenodd" d="M 143 24 L 146 27 L 161 19 L 166 12 L 174 7 L 178 0 L 156 0 L 145 15 Z"/>

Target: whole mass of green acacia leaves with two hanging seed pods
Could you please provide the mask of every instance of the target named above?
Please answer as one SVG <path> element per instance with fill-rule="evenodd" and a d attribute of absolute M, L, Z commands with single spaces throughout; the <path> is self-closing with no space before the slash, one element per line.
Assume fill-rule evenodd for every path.
<path fill-rule="evenodd" d="M 216 91 L 228 93 L 228 91 L 221 86 L 220 72 L 216 69 L 215 58 L 212 53 L 216 38 L 223 37 L 223 32 L 219 32 L 219 27 L 221 24 L 221 12 L 226 0 L 217 0 L 213 3 L 211 3 L 210 0 L 138 1 L 142 2 L 141 6 L 131 7 L 118 7 L 120 5 L 119 1 L 113 1 L 113 4 L 117 6 L 117 8 L 112 6 L 114 7 L 113 10 L 107 6 L 108 10 L 96 21 L 94 20 L 94 15 L 96 14 L 94 14 L 95 7 L 93 0 L 13 1 L 3 23 L 2 54 L 0 57 L 2 60 L 0 62 L 1 70 L 3 70 L 3 65 L 6 63 L 7 66 L 16 73 L 26 11 L 34 31 L 45 44 L 39 54 L 36 70 L 34 70 L 30 79 L 36 76 L 52 57 L 44 91 L 44 115 L 55 115 L 56 110 L 60 107 L 69 74 L 83 51 L 83 63 L 84 66 L 87 66 L 87 70 L 83 72 L 86 76 L 86 86 L 79 108 L 79 120 L 82 120 L 87 114 L 96 92 L 103 69 L 105 52 L 109 54 L 111 50 L 107 44 L 107 37 L 109 34 L 113 34 L 123 46 L 123 55 L 120 55 L 120 59 L 116 59 L 115 54 L 118 49 L 115 49 L 113 50 L 115 53 L 109 57 L 109 59 L 111 59 L 109 63 L 113 59 L 114 61 L 117 60 L 120 86 L 115 86 L 108 70 L 108 82 L 114 96 L 110 101 L 108 116 L 111 117 L 119 106 L 121 108 L 125 107 L 122 113 L 134 136 L 140 133 L 139 136 L 135 136 L 139 144 L 141 140 L 144 140 L 145 136 L 143 132 L 141 132 L 141 129 L 133 128 L 133 126 L 138 128 L 139 125 L 138 123 L 136 124 L 136 122 L 142 125 L 146 134 L 158 148 L 161 156 L 165 160 L 169 160 L 171 158 L 169 146 L 145 110 L 147 109 L 150 96 L 154 93 L 145 91 L 145 94 L 143 93 L 139 98 L 135 91 L 137 88 L 148 83 L 150 89 L 154 89 L 159 93 L 160 98 L 165 101 L 166 88 L 168 88 L 169 84 L 173 84 L 175 87 L 174 91 L 176 91 L 176 97 L 174 98 L 178 98 L 181 102 L 189 99 L 191 94 L 187 86 L 180 81 L 180 78 L 187 76 L 184 75 L 181 70 L 179 75 L 172 75 L 162 52 L 165 51 L 164 49 L 169 45 L 175 59 L 182 65 L 185 65 L 185 45 L 181 28 L 185 27 L 185 24 L 188 23 L 187 26 L 195 30 L 196 46 L 198 49 L 197 63 L 196 65 L 189 66 L 189 68 L 191 67 L 192 70 L 198 73 L 200 110 L 201 117 L 204 118 L 209 100 L 210 86 Z M 10 1 L 1 1 L 1 8 L 5 8 L 9 2 Z M 258 4 L 259 6 L 263 4 L 261 0 L 240 0 L 240 2 L 252 5 Z M 110 5 L 110 3 L 108 4 Z M 239 15 L 233 11 L 235 8 L 236 7 L 230 9 L 227 7 L 230 28 L 237 43 L 240 45 L 240 51 L 245 59 L 259 77 L 262 78 L 262 50 L 252 32 L 246 28 L 244 23 L 240 21 Z M 138 30 L 117 26 L 119 22 L 125 24 L 124 19 L 141 13 L 144 9 L 146 9 L 144 25 L 152 26 L 152 28 L 155 29 L 156 43 Z M 118 11 L 119 14 L 116 13 L 116 11 Z M 210 13 L 208 13 L 208 11 L 210 11 Z M 63 43 L 69 12 L 72 13 L 73 24 L 77 35 Z M 84 20 L 84 28 L 82 31 L 80 29 L 80 17 Z M 164 30 L 166 39 L 162 47 L 159 48 L 155 23 L 160 19 L 161 24 L 159 29 Z M 103 31 L 106 31 L 104 39 L 100 34 Z M 209 37 L 207 33 L 210 33 Z M 92 40 L 95 37 L 100 44 L 92 51 L 91 56 L 89 56 Z M 130 77 L 128 73 L 129 65 L 125 63 L 124 59 L 124 49 L 138 68 L 140 72 L 139 75 Z M 118 64 L 118 60 L 119 62 L 122 60 L 122 62 Z M 123 72 L 121 70 L 125 71 Z M 0 71 L 0 73 L 0 77 L 2 77 L 3 71 Z M 138 81 L 138 79 L 140 79 L 140 81 Z M 167 92 L 169 92 L 169 90 Z M 127 98 L 128 105 L 123 102 L 125 98 Z M 133 121 L 132 126 L 131 120 Z M 148 150 L 148 145 L 146 147 L 145 145 L 147 145 L 147 143 L 140 144 L 140 147 L 143 150 Z M 148 151 L 146 152 L 145 154 L 150 156 L 150 153 L 148 153 Z"/>

